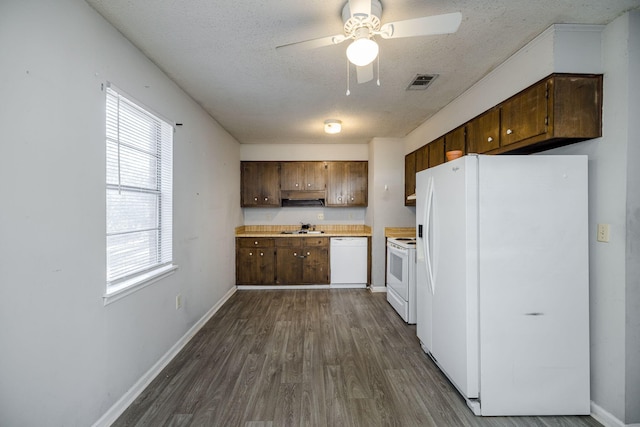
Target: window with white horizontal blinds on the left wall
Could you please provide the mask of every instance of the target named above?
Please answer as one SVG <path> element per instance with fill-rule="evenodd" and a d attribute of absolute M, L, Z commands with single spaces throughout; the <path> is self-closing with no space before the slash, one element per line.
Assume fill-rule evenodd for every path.
<path fill-rule="evenodd" d="M 173 127 L 106 93 L 109 294 L 172 263 Z"/>

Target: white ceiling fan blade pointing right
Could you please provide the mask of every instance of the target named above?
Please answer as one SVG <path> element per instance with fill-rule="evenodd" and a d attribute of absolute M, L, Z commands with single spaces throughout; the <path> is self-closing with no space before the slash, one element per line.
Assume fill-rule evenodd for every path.
<path fill-rule="evenodd" d="M 461 22 L 462 14 L 460 12 L 424 16 L 384 24 L 380 28 L 380 36 L 383 39 L 399 39 L 401 37 L 450 34 L 458 31 Z"/>

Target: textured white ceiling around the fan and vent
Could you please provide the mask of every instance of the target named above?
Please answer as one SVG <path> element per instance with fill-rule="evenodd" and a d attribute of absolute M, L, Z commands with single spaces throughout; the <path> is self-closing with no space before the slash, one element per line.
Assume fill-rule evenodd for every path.
<path fill-rule="evenodd" d="M 346 96 L 346 0 L 86 0 L 241 143 L 366 143 L 402 137 L 551 24 L 607 24 L 640 0 L 381 0 L 382 23 L 462 12 L 455 34 L 379 40 L 380 81 Z M 407 91 L 416 74 L 439 74 Z M 325 135 L 327 118 L 343 132 Z"/>

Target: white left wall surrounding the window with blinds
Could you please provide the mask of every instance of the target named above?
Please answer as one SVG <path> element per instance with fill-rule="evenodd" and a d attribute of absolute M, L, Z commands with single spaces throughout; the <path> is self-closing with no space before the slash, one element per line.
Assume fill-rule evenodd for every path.
<path fill-rule="evenodd" d="M 232 289 L 238 143 L 82 0 L 3 0 L 0 77 L 0 425 L 91 425 Z M 106 81 L 184 123 L 180 268 L 108 306 Z"/>

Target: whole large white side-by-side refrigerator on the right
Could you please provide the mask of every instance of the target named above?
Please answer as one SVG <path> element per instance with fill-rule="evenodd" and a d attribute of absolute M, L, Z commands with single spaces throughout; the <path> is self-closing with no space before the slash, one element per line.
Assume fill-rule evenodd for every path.
<path fill-rule="evenodd" d="M 416 175 L 416 331 L 476 415 L 589 414 L 586 156 Z"/>

